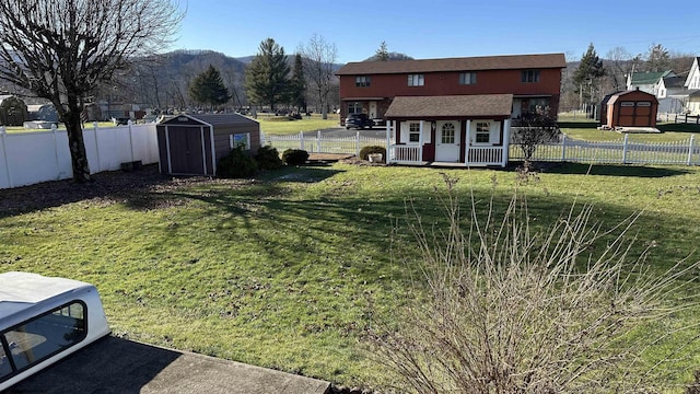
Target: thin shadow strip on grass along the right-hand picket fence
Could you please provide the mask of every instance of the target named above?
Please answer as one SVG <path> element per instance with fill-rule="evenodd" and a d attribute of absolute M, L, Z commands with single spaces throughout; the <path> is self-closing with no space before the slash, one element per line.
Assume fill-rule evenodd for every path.
<path fill-rule="evenodd" d="M 610 165 L 610 164 L 580 164 L 561 163 L 544 165 L 542 173 L 570 174 L 570 175 L 605 175 L 605 176 L 634 176 L 661 178 L 667 176 L 686 175 L 690 172 L 681 169 L 660 169 L 639 165 Z"/>

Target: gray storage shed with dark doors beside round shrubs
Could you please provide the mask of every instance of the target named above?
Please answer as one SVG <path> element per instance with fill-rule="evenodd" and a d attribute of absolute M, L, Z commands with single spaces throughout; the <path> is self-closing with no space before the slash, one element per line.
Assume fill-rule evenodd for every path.
<path fill-rule="evenodd" d="M 179 115 L 158 125 L 160 170 L 174 175 L 217 175 L 217 163 L 238 143 L 254 154 L 260 124 L 238 114 Z"/>

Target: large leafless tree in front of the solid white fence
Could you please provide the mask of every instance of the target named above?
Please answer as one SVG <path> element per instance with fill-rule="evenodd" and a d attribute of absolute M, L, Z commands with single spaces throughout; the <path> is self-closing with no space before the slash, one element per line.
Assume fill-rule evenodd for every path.
<path fill-rule="evenodd" d="M 162 49 L 183 13 L 171 0 L 3 0 L 0 79 L 49 100 L 68 130 L 73 178 L 90 181 L 84 97 Z"/>

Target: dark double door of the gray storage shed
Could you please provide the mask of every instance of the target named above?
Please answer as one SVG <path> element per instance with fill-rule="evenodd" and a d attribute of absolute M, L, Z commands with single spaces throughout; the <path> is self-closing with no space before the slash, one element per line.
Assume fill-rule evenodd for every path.
<path fill-rule="evenodd" d="M 173 127 L 168 129 L 171 173 L 206 174 L 202 129 Z"/>

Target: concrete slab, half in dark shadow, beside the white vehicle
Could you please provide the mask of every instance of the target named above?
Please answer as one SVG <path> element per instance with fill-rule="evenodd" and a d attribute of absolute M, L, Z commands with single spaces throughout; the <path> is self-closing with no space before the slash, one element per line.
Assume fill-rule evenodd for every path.
<path fill-rule="evenodd" d="M 107 337 L 8 390 L 7 394 L 325 394 L 330 383 Z"/>

